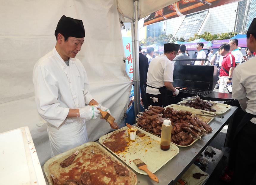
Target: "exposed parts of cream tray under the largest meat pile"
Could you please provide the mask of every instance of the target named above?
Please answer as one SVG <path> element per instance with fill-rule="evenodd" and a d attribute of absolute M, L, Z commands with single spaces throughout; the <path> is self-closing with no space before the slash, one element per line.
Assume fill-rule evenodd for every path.
<path fill-rule="evenodd" d="M 182 105 L 173 104 L 173 105 L 168 105 L 168 106 L 166 106 L 166 107 L 164 107 L 164 108 L 166 109 L 167 107 L 172 107 L 174 110 L 189 111 L 189 112 L 193 113 L 193 114 L 192 114 L 192 117 L 194 117 L 195 114 L 202 114 L 202 113 L 201 113 L 201 110 L 199 110 L 199 109 L 194 109 L 194 108 L 188 107 L 188 106 L 182 106 Z M 214 119 L 213 117 L 206 117 L 206 116 L 197 116 L 197 117 L 198 117 L 198 119 L 200 119 L 201 121 L 203 121 L 203 122 L 205 122 L 205 123 L 207 123 L 207 124 L 209 124 L 209 123 Z M 136 123 L 136 125 L 137 125 L 138 127 L 140 127 L 141 129 L 145 130 L 145 129 L 142 128 L 138 123 Z M 147 131 L 147 130 L 145 130 L 145 131 L 146 131 L 146 132 L 149 132 L 149 131 Z M 156 135 L 156 134 L 154 134 L 154 133 L 152 133 L 152 132 L 149 132 L 149 133 L 151 133 L 151 134 L 153 134 L 153 135 Z M 159 135 L 156 135 L 156 136 L 159 137 L 159 138 L 161 138 L 161 136 L 159 136 Z M 201 136 L 202 136 L 202 135 L 201 135 Z M 179 146 L 179 147 L 188 147 L 188 146 L 191 146 L 192 144 L 194 144 L 197 140 L 198 140 L 198 139 L 195 139 L 194 141 L 192 141 L 192 143 L 190 143 L 189 145 L 185 145 L 185 146 L 183 146 L 183 145 L 178 145 L 178 144 L 173 143 L 173 142 L 171 142 L 171 143 L 173 143 L 173 144 L 175 144 L 175 145 L 177 145 L 177 146 Z"/>

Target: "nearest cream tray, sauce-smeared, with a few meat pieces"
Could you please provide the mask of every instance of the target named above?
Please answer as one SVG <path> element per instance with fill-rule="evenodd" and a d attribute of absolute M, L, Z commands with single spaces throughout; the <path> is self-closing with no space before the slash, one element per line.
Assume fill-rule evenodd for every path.
<path fill-rule="evenodd" d="M 77 150 L 79 150 L 79 153 L 73 163 L 66 168 L 62 168 L 60 166 L 60 162 L 62 162 L 64 159 L 69 157 Z M 94 154 L 90 152 L 91 150 L 94 151 Z M 70 178 L 77 179 L 79 181 L 79 184 L 81 184 L 80 176 L 83 172 L 86 171 L 90 172 L 92 177 L 92 183 L 95 184 L 137 184 L 137 176 L 129 168 L 127 168 L 129 170 L 128 176 L 119 176 L 115 172 L 115 161 L 118 161 L 119 164 L 127 168 L 127 166 L 117 160 L 99 143 L 88 142 L 74 149 L 68 150 L 62 154 L 52 157 L 43 165 L 43 170 L 45 172 L 49 185 L 53 185 L 53 182 L 51 180 L 51 173 L 54 174 L 62 184 L 64 183 L 64 181 Z M 97 179 L 97 182 L 94 182 L 93 179 Z"/>

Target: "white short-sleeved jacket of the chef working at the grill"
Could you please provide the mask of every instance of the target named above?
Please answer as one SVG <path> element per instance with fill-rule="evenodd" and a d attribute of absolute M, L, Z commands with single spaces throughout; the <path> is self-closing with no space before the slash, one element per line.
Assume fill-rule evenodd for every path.
<path fill-rule="evenodd" d="M 149 64 L 147 85 L 159 88 L 164 86 L 164 82 L 173 82 L 173 70 L 174 64 L 166 55 L 153 58 Z M 147 86 L 146 93 L 160 94 L 158 89 L 152 87 Z"/>

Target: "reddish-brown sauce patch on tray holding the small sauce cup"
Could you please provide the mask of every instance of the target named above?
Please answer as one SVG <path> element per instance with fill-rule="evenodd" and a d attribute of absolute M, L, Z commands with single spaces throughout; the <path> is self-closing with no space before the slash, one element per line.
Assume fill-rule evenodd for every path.
<path fill-rule="evenodd" d="M 121 132 L 110 135 L 107 138 L 110 141 L 104 142 L 103 144 L 116 153 L 125 151 L 127 146 L 129 146 L 129 140 L 125 132 L 126 130 L 122 130 Z"/>

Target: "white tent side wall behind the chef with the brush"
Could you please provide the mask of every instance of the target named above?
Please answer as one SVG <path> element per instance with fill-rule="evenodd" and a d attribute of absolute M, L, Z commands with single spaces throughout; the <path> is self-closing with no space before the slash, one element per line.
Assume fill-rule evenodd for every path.
<path fill-rule="evenodd" d="M 46 126 L 39 123 L 42 119 L 33 97 L 32 71 L 37 60 L 53 49 L 56 43 L 54 31 L 63 14 L 83 20 L 85 43 L 77 58 L 87 71 L 90 93 L 110 109 L 117 122 L 120 121 L 132 84 L 123 62 L 124 48 L 116 2 L 1 1 L 0 133 L 29 126 L 35 146 L 47 143 Z M 111 130 L 101 119 L 88 121 L 86 125 L 89 141 L 95 141 Z M 37 150 L 48 151 L 49 145 Z M 50 157 L 50 150 L 47 151 L 38 153 L 41 164 Z"/>

